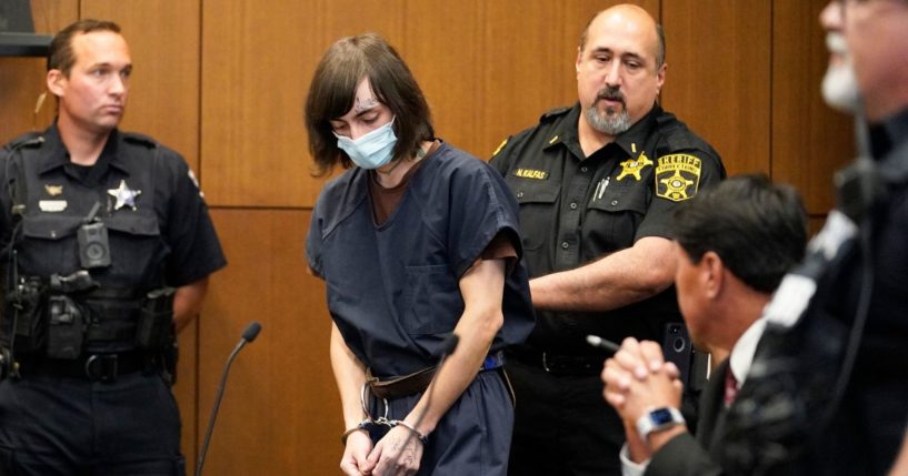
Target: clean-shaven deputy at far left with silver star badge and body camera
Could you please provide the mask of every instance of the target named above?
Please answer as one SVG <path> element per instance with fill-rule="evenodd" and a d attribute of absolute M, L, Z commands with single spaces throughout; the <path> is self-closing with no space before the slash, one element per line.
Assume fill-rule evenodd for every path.
<path fill-rule="evenodd" d="M 0 474 L 184 474 L 173 328 L 226 261 L 182 158 L 117 129 L 131 71 L 116 23 L 67 27 L 57 120 L 0 152 Z"/>

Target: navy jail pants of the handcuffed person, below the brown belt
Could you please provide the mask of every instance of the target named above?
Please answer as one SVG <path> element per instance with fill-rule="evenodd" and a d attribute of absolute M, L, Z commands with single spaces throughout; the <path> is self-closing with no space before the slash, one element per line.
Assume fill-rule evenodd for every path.
<path fill-rule="evenodd" d="M 421 395 L 388 402 L 388 419 L 403 419 Z M 376 398 L 370 411 L 385 415 Z M 510 389 L 499 371 L 480 372 L 429 435 L 417 476 L 506 476 L 512 425 Z"/>

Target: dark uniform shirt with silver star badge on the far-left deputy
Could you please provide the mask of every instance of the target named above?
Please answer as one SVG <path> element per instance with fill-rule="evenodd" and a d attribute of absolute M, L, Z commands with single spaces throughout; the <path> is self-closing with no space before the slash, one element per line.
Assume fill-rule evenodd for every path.
<path fill-rule="evenodd" d="M 96 216 L 108 230 L 111 264 L 89 271 L 102 288 L 179 287 L 226 264 L 189 166 L 143 135 L 114 130 L 97 163 L 84 168 L 70 162 L 52 125 L 0 150 L 0 184 L 4 250 L 16 222 L 12 206 L 24 205 L 14 243 L 20 276 L 66 276 L 83 269 L 77 235 L 96 203 Z M 117 191 L 131 200 L 118 199 Z M 2 253 L 4 269 L 8 257 Z"/>

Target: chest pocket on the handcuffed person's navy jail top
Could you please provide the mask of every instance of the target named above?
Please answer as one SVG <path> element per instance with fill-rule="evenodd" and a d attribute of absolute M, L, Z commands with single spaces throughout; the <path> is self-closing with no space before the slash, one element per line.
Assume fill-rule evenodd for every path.
<path fill-rule="evenodd" d="M 452 332 L 463 314 L 458 280 L 448 265 L 407 266 L 403 328 L 412 335 Z"/>

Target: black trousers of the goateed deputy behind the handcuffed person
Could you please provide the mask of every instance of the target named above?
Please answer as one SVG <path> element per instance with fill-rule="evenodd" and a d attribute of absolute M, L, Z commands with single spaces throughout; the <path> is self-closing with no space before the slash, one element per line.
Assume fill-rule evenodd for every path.
<path fill-rule="evenodd" d="M 515 359 L 506 367 L 517 397 L 509 475 L 621 474 L 625 428 L 599 375 L 557 376 Z"/>

